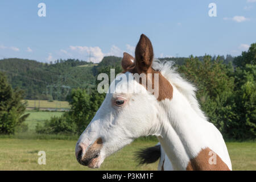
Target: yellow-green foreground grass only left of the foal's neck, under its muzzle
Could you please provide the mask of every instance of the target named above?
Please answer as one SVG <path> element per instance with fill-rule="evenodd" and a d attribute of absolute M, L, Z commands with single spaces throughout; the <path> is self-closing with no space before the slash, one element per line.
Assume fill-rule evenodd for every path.
<path fill-rule="evenodd" d="M 0 170 L 92 170 L 75 158 L 76 140 L 0 139 Z M 154 146 L 156 142 L 143 143 Z M 105 160 L 101 170 L 155 170 L 157 163 L 137 167 L 133 152 L 142 146 L 134 142 Z M 46 165 L 38 164 L 38 151 L 46 152 Z M 98 169 L 94 169 L 98 170 Z"/>

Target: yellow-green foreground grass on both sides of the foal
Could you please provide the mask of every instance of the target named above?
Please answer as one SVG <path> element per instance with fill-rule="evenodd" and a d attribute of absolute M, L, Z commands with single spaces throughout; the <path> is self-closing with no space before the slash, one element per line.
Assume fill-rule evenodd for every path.
<path fill-rule="evenodd" d="M 0 138 L 0 170 L 92 170 L 75 159 L 76 140 Z M 155 141 L 137 140 L 105 159 L 100 170 L 156 170 L 158 162 L 137 166 L 134 152 L 154 146 Z M 227 143 L 233 170 L 256 170 L 255 142 Z M 38 164 L 38 152 L 46 152 L 46 165 Z M 93 169 L 99 170 L 99 169 Z"/>

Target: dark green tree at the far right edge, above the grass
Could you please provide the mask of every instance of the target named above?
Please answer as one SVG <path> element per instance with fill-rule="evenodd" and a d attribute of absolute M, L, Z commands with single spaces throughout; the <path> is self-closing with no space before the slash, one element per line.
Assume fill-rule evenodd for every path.
<path fill-rule="evenodd" d="M 256 137 L 256 65 L 246 64 L 234 73 L 236 89 L 234 100 L 238 118 L 229 123 L 230 138 L 255 139 Z"/>

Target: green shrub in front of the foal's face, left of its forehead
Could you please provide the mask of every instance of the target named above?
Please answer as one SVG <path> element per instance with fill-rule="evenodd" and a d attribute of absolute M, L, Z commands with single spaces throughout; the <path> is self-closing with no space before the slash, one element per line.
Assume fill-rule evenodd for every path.
<path fill-rule="evenodd" d="M 84 89 L 73 89 L 69 104 L 71 110 L 60 117 L 52 117 L 44 125 L 36 125 L 39 134 L 81 134 L 100 107 L 104 96 L 95 90 L 92 94 Z"/>

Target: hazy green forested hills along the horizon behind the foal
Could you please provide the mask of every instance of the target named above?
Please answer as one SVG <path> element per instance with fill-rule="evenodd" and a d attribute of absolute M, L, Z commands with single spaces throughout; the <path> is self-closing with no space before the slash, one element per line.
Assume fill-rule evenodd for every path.
<path fill-rule="evenodd" d="M 230 56 L 221 58 L 226 61 Z M 160 60 L 172 60 L 182 65 L 185 59 L 187 57 Z M 51 64 L 18 58 L 0 60 L 0 72 L 6 73 L 13 88 L 25 91 L 26 99 L 66 100 L 72 88 L 88 91 L 95 88 L 98 73 L 108 72 L 109 68 L 121 71 L 121 57 L 106 56 L 99 64 L 76 59 L 56 60 Z"/>

